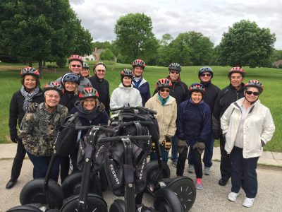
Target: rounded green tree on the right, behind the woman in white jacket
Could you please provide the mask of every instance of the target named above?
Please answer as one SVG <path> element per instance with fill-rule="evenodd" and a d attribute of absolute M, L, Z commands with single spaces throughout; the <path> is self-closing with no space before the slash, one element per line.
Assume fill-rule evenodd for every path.
<path fill-rule="evenodd" d="M 274 51 L 275 34 L 269 28 L 259 28 L 250 20 L 234 23 L 223 33 L 219 44 L 219 61 L 229 66 L 266 66 Z"/>

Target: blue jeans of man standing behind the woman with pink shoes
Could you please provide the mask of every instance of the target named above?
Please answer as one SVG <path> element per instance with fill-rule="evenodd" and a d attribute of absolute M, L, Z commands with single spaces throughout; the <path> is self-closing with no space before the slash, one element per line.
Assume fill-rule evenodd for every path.
<path fill-rule="evenodd" d="M 214 136 L 209 136 L 209 138 L 204 142 L 206 146 L 204 148 L 204 167 L 212 167 L 212 155 L 214 155 Z M 194 165 L 193 151 L 188 153 L 188 163 Z"/>

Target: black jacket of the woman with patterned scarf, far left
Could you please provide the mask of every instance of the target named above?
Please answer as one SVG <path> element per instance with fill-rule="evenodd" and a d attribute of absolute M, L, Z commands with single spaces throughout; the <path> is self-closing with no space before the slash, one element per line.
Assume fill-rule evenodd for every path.
<path fill-rule="evenodd" d="M 20 123 L 22 122 L 23 117 L 25 116 L 25 112 L 23 111 L 24 100 L 25 98 L 20 93 L 20 90 L 15 92 L 11 99 L 8 125 L 10 128 L 10 136 L 12 141 L 16 141 L 16 138 L 18 136 L 17 124 L 18 126 L 20 126 Z M 44 102 L 44 94 L 41 89 L 39 90 L 37 95 L 33 97 L 32 102 Z"/>

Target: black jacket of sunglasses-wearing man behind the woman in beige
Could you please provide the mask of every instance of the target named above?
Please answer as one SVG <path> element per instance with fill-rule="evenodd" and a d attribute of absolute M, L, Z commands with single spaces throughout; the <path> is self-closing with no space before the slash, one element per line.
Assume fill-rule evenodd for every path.
<path fill-rule="evenodd" d="M 170 78 L 168 79 L 170 80 Z M 154 90 L 154 94 L 157 92 L 157 90 Z M 172 83 L 172 88 L 169 91 L 169 95 L 176 99 L 177 107 L 179 107 L 181 102 L 189 99 L 188 87 L 182 81 Z"/>

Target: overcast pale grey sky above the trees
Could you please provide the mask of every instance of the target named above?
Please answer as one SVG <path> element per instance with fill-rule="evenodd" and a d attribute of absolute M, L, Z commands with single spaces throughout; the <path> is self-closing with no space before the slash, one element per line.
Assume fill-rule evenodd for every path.
<path fill-rule="evenodd" d="M 127 13 L 145 13 L 152 18 L 157 39 L 169 33 L 196 31 L 210 38 L 214 45 L 223 32 L 242 19 L 255 21 L 259 28 L 276 34 L 274 47 L 282 49 L 281 0 L 71 0 L 71 7 L 90 31 L 94 41 L 116 39 L 116 20 Z"/>

